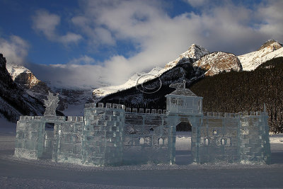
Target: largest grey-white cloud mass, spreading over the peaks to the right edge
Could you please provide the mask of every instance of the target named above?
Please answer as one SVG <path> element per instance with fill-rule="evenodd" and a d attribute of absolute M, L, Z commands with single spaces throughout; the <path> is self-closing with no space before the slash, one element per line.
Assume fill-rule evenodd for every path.
<path fill-rule="evenodd" d="M 232 1 L 223 1 L 217 6 L 214 1 L 188 2 L 209 8 L 171 17 L 162 1 L 80 1 L 81 12 L 71 22 L 88 40 L 90 50 L 99 47 L 111 50 L 121 41 L 131 43 L 134 49 L 130 57 L 110 54 L 108 60 L 100 62 L 102 66 L 89 65 L 94 60 L 78 57 L 71 61 L 76 67 L 68 64 L 69 71 L 64 77 L 60 74 L 60 78 L 66 79 L 72 73 L 78 81 L 81 76 L 82 83 L 121 84 L 134 72 L 163 67 L 192 43 L 211 52 L 241 55 L 256 50 L 270 38 L 283 41 L 282 1 L 266 1 L 254 5 L 253 9 Z"/>

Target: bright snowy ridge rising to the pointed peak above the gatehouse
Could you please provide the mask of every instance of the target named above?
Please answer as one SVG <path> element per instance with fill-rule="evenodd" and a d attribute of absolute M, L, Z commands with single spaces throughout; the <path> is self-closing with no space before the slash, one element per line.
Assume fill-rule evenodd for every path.
<path fill-rule="evenodd" d="M 148 81 L 157 78 L 158 76 L 161 76 L 161 74 L 168 71 L 169 69 L 172 69 L 177 64 L 192 63 L 195 62 L 197 59 L 200 59 L 200 57 L 207 54 L 209 54 L 209 51 L 206 50 L 204 47 L 201 47 L 200 45 L 192 44 L 186 52 L 181 54 L 174 61 L 168 62 L 168 64 L 166 64 L 166 66 L 163 69 L 161 67 L 155 67 L 154 69 L 149 71 L 149 73 L 144 73 L 144 72 L 135 73 L 133 76 L 130 77 L 130 79 L 125 84 L 119 86 L 106 86 L 106 87 L 96 88 L 93 91 L 93 95 L 99 99 L 110 93 L 115 93 L 117 91 L 121 91 L 126 88 L 131 88 L 133 86 L 136 86 L 137 84 L 143 83 L 144 81 Z"/>

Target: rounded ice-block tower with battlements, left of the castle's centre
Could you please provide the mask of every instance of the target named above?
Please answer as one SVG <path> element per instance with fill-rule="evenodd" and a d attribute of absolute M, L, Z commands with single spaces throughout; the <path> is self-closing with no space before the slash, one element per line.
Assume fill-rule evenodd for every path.
<path fill-rule="evenodd" d="M 83 164 L 105 166 L 122 164 L 125 106 L 88 104 L 84 110 L 82 140 Z"/>

